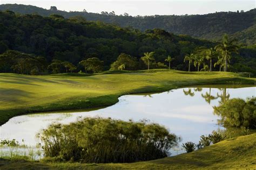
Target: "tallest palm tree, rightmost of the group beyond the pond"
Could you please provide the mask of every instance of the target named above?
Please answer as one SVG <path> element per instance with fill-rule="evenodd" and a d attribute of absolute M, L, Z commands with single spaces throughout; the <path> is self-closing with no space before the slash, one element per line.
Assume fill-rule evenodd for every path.
<path fill-rule="evenodd" d="M 224 72 L 227 71 L 227 62 L 228 60 L 230 60 L 231 54 L 232 52 L 237 52 L 238 51 L 238 46 L 234 45 L 234 42 L 236 40 L 230 40 L 228 39 L 227 34 L 224 34 L 223 36 L 223 42 L 217 46 L 215 46 L 215 49 L 219 52 L 222 52 L 224 55 Z"/>

